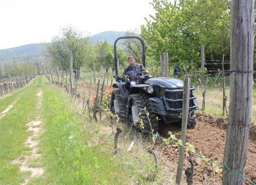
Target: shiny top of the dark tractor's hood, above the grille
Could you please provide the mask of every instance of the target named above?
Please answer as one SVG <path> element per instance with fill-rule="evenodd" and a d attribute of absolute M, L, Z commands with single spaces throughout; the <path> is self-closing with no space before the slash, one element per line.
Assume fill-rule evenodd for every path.
<path fill-rule="evenodd" d="M 183 89 L 183 80 L 172 77 L 154 77 L 148 79 L 145 84 L 153 86 L 162 86 L 164 88 Z"/>

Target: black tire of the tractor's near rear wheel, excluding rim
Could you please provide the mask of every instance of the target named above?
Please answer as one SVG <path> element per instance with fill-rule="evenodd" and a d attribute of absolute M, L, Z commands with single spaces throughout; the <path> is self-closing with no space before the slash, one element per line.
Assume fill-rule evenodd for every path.
<path fill-rule="evenodd" d="M 110 111 L 115 113 L 114 100 L 117 99 L 119 105 L 119 113 L 117 115 L 120 118 L 120 121 L 125 121 L 126 118 L 126 104 L 122 102 L 120 91 L 113 90 L 111 94 L 111 102 L 110 102 Z"/>

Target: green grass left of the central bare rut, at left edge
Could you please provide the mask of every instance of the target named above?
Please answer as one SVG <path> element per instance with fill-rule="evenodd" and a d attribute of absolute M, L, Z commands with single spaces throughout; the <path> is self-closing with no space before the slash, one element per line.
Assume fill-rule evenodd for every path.
<path fill-rule="evenodd" d="M 38 83 L 39 79 L 40 77 L 37 77 L 33 84 Z M 34 118 L 36 93 L 39 90 L 32 85 L 1 100 L 1 106 L 2 102 L 7 105 L 22 92 L 17 103 L 0 121 L 0 184 L 20 184 L 25 175 L 19 172 L 17 165 L 12 164 L 12 160 L 27 150 L 23 145 L 30 134 L 26 131 L 26 124 Z"/>

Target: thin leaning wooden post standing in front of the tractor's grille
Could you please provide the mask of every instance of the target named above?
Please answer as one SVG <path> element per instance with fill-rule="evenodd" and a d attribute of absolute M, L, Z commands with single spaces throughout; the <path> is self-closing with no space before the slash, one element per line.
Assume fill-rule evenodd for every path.
<path fill-rule="evenodd" d="M 188 106 L 189 106 L 189 87 L 190 87 L 190 79 L 188 76 L 184 77 L 184 86 L 183 86 L 183 109 L 182 109 L 182 145 L 186 145 L 186 130 L 187 130 L 187 116 L 188 116 Z M 179 161 L 178 161 L 178 169 L 176 176 L 176 184 L 181 184 L 182 178 L 182 169 L 183 169 L 183 158 L 184 158 L 184 147 L 179 147 Z"/>

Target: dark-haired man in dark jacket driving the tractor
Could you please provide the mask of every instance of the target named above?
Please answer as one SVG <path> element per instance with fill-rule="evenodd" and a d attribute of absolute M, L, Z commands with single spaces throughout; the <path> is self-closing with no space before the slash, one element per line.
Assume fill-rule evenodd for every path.
<path fill-rule="evenodd" d="M 138 84 L 138 75 L 143 73 L 148 73 L 145 67 L 142 64 L 138 64 L 135 62 L 134 56 L 128 56 L 129 66 L 125 68 L 122 76 L 127 81 L 128 78 L 130 80 L 130 86 Z"/>

